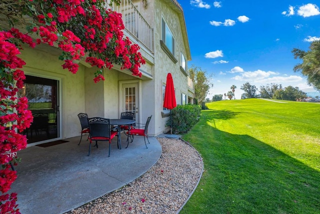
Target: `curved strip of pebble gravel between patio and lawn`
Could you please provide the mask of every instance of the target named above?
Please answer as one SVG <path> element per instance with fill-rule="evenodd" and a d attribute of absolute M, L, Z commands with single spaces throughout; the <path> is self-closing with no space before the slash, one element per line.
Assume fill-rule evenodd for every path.
<path fill-rule="evenodd" d="M 182 139 L 157 140 L 162 153 L 147 172 L 67 213 L 178 213 L 199 183 L 202 158 Z"/>

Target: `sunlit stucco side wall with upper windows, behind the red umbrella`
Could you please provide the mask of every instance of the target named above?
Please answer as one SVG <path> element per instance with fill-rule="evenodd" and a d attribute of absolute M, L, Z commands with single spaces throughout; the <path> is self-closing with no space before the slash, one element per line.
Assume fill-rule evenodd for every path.
<path fill-rule="evenodd" d="M 180 70 L 180 52 L 186 56 L 186 48 L 184 46 L 184 42 L 182 40 L 182 31 L 181 24 L 179 21 L 179 16 L 177 13 L 177 9 L 173 3 L 168 3 L 166 0 L 157 0 L 154 1 L 154 34 L 155 34 L 155 52 L 154 52 L 154 60 L 155 60 L 155 72 L 154 72 L 154 88 L 155 93 L 154 100 L 155 103 L 155 116 L 157 118 L 157 124 L 155 124 L 155 134 L 161 133 L 163 130 L 166 130 L 165 126 L 166 121 L 169 117 L 161 117 L 162 111 L 162 83 L 166 82 L 166 75 L 168 72 L 172 74 L 174 88 L 175 88 L 175 97 L 177 104 L 181 104 L 181 93 L 187 94 L 187 76 Z M 168 55 L 162 50 L 160 46 L 159 40 L 161 37 L 161 19 L 162 17 L 166 21 L 166 24 L 170 28 L 175 45 L 174 45 L 174 57 L 177 59 L 177 62 L 174 63 Z"/>

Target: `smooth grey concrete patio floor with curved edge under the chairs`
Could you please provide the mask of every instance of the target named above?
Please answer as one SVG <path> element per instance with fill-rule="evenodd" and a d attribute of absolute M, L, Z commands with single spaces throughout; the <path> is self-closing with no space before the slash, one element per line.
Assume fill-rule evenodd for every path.
<path fill-rule="evenodd" d="M 86 135 L 67 138 L 68 142 L 48 147 L 32 146 L 18 152 L 21 163 L 15 166 L 17 179 L 10 192 L 17 192 L 21 213 L 64 213 L 136 179 L 151 168 L 161 155 L 160 143 L 149 136 L 145 148 L 142 136 L 135 136 L 122 149 L 111 143 L 98 142 L 87 156 Z M 94 145 L 94 143 L 92 143 Z"/>

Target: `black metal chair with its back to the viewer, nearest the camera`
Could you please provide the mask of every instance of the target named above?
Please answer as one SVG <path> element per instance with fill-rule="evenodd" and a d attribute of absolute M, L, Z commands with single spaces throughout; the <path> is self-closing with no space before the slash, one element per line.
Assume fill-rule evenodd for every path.
<path fill-rule="evenodd" d="M 111 148 L 111 140 L 117 135 L 117 131 L 111 131 L 110 119 L 102 117 L 92 117 L 88 118 L 90 135 L 89 135 L 89 153 L 91 151 L 92 140 L 95 141 L 95 146 L 98 147 L 97 141 L 108 141 L 109 142 L 109 155 Z"/>

